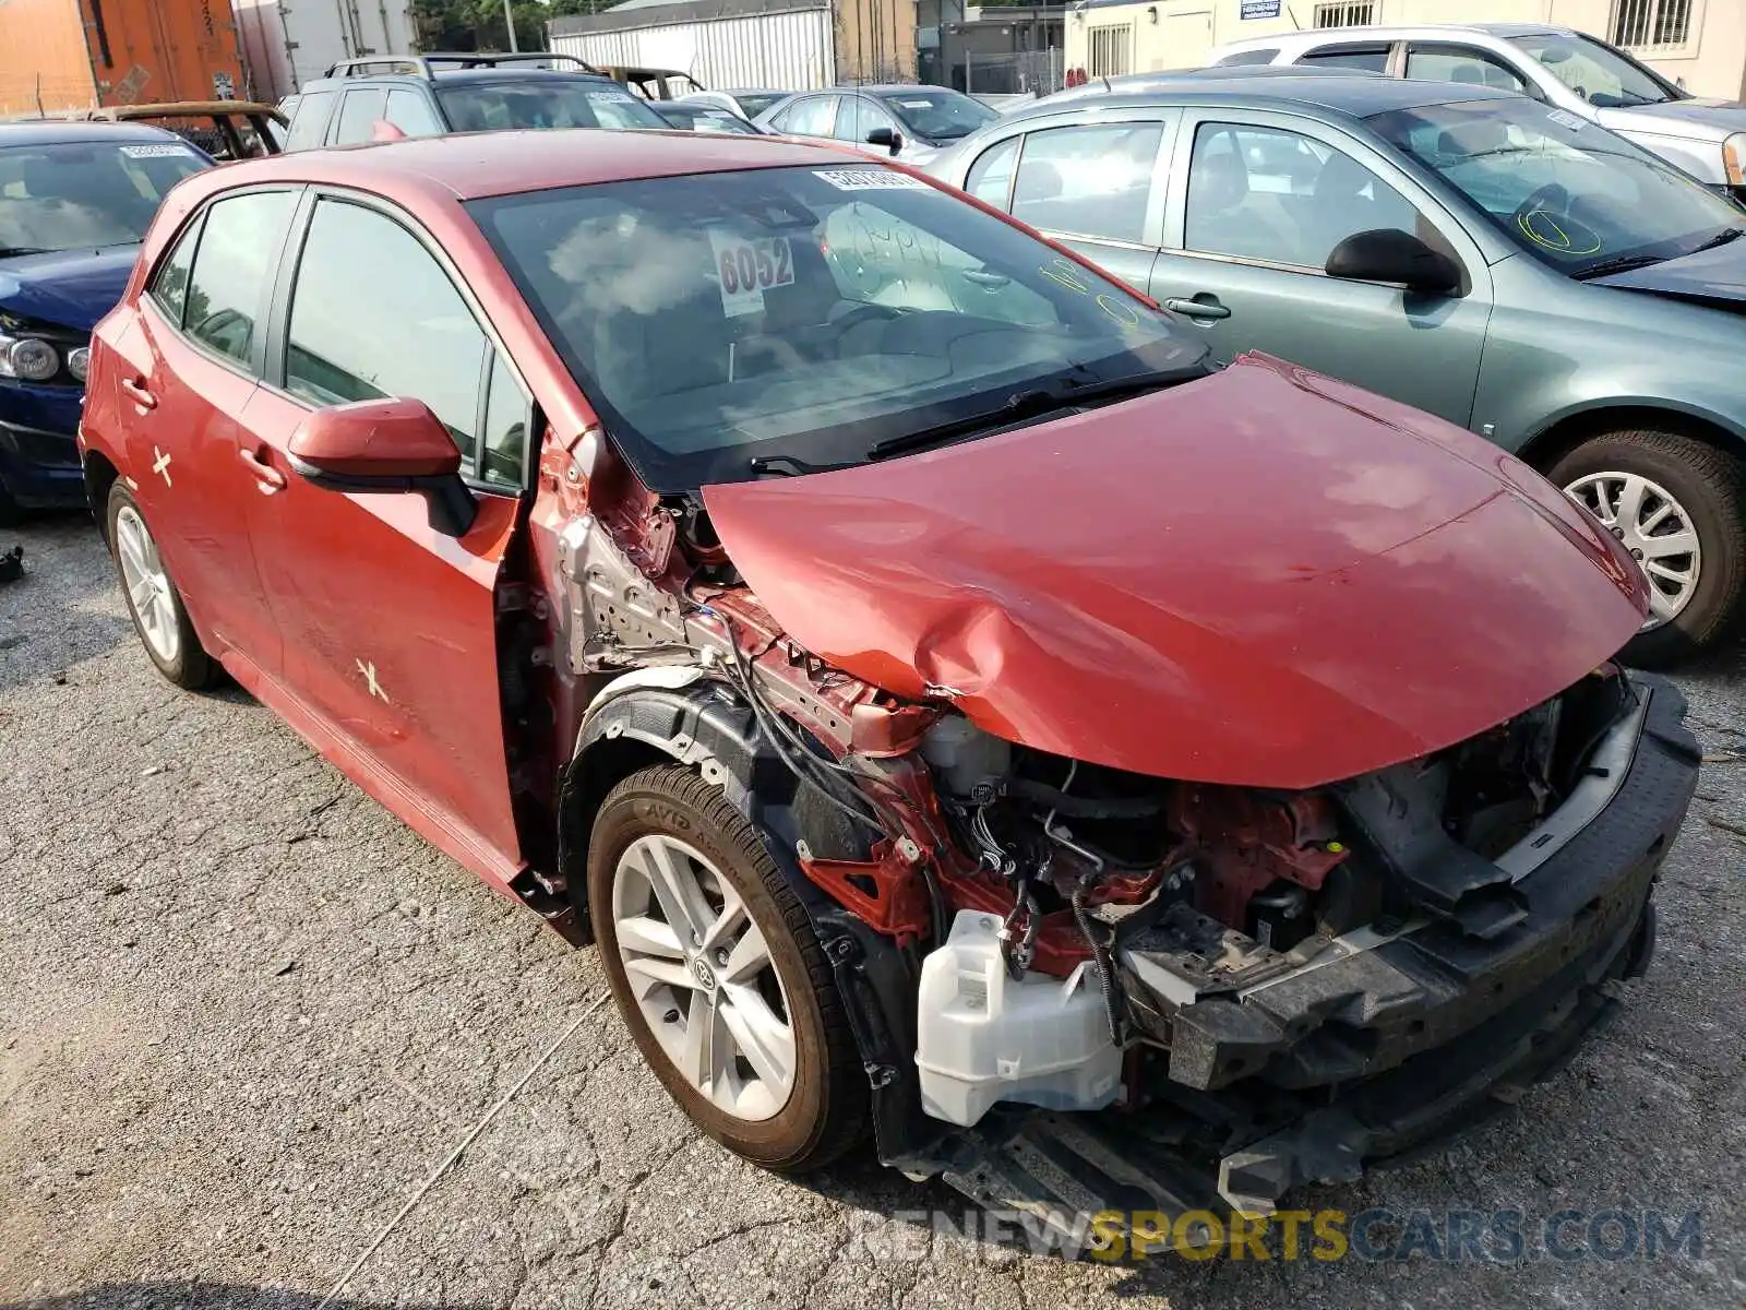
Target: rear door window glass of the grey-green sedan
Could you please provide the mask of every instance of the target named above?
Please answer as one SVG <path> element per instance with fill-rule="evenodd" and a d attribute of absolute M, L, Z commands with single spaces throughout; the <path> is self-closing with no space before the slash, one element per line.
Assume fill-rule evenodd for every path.
<path fill-rule="evenodd" d="M 1140 241 L 1161 136 L 1158 122 L 1032 133 L 1018 161 L 1013 217 L 1048 232 Z"/>

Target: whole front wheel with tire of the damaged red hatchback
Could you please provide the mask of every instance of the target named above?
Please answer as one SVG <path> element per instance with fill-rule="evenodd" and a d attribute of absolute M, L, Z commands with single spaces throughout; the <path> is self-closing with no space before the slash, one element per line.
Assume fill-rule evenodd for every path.
<path fill-rule="evenodd" d="M 667 912 L 669 901 L 646 875 L 658 868 L 651 852 L 662 851 L 693 877 L 688 886 L 704 893 L 691 915 L 705 924 L 702 950 L 695 940 L 670 950 L 688 933 L 663 931 L 681 915 Z M 670 900 L 670 868 L 665 882 Z M 714 945 L 709 936 L 711 917 L 718 927 L 728 917 L 730 893 L 768 948 L 754 985 L 733 964 L 740 952 L 747 961 L 758 957 L 747 947 L 753 931 L 726 931 Z M 618 1011 L 643 1058 L 698 1128 L 753 1163 L 786 1174 L 822 1169 L 863 1141 L 868 1081 L 824 950 L 758 831 L 718 788 L 679 765 L 644 769 L 613 788 L 588 844 L 588 905 Z M 663 976 L 651 978 L 651 971 Z M 775 1031 L 770 1018 L 779 1025 L 786 1020 L 791 1034 L 786 1095 L 777 1078 L 763 1076 L 780 1064 L 768 1051 L 784 1050 L 782 1043 L 765 1041 L 766 1058 L 754 1065 L 744 1051 L 758 1043 L 739 1036 L 754 1020 L 760 1034 Z M 700 1045 L 693 1032 L 711 1034 L 707 1057 L 690 1058 Z M 723 1034 L 732 1043 L 725 1050 L 716 1046 Z M 681 1058 L 693 1069 L 728 1064 L 728 1071 L 691 1078 Z M 712 1092 L 704 1090 L 705 1081 Z"/>

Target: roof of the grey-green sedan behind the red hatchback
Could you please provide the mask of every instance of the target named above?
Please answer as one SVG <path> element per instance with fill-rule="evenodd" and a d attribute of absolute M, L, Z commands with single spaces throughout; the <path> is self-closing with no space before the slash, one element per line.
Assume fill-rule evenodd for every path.
<path fill-rule="evenodd" d="M 1213 77 L 1212 70 L 1198 70 L 1170 79 L 1168 75 L 1144 73 L 1144 89 L 1123 91 L 1119 79 L 1114 79 L 1109 93 L 1077 96 L 1044 96 L 1025 108 L 1007 114 L 1006 119 L 1030 119 L 1039 114 L 1074 108 L 1114 107 L 1131 108 L 1152 101 L 1215 101 L 1219 105 L 1248 108 L 1278 108 L 1313 105 L 1316 108 L 1344 114 L 1353 119 L 1367 119 L 1372 114 L 1388 114 L 1402 108 L 1421 108 L 1425 105 L 1451 105 L 1467 100 L 1514 100 L 1514 91 L 1498 87 L 1409 80 L 1395 77 L 1376 77 L 1374 73 L 1311 77 L 1255 77 L 1252 73 L 1234 77 Z"/>

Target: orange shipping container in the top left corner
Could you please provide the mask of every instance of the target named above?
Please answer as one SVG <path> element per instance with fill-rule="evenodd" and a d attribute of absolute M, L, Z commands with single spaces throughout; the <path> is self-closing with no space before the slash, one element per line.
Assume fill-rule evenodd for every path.
<path fill-rule="evenodd" d="M 0 3 L 0 117 L 230 100 L 241 86 L 229 0 Z"/>

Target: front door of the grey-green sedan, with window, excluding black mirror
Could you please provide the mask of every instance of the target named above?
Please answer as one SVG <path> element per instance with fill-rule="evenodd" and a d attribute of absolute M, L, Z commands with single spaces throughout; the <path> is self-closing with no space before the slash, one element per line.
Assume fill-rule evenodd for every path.
<path fill-rule="evenodd" d="M 1219 360 L 1266 351 L 1467 426 L 1491 318 L 1479 248 L 1411 176 L 1339 129 L 1194 108 L 1168 173 L 1147 290 Z M 1400 229 L 1460 265 L 1454 292 L 1325 272 L 1346 238 Z"/>

